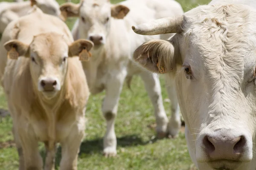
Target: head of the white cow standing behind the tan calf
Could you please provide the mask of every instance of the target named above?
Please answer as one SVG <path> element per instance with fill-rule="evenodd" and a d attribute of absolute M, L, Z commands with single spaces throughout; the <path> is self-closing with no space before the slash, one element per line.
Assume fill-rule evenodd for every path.
<path fill-rule="evenodd" d="M 108 30 L 113 18 L 123 19 L 129 8 L 111 5 L 109 0 L 84 0 L 80 4 L 64 3 L 60 7 L 64 17 L 79 17 L 80 34 L 93 41 L 94 45 L 106 42 Z"/>

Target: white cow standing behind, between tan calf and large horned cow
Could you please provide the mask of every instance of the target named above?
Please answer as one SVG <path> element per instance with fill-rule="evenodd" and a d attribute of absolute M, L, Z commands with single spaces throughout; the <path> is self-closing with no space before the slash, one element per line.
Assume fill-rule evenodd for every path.
<path fill-rule="evenodd" d="M 172 6 L 171 10 L 169 6 Z M 102 104 L 102 112 L 107 121 L 103 151 L 105 156 L 116 155 L 114 120 L 119 96 L 125 77 L 131 78 L 134 74 L 143 79 L 154 105 L 158 136 L 166 136 L 166 133 L 176 136 L 180 129 L 180 116 L 174 89 L 168 88 L 172 99 L 172 118 L 168 123 L 157 75 L 130 61 L 133 51 L 141 43 L 152 38 L 165 38 L 166 35 L 143 37 L 130 28 L 133 24 L 183 14 L 180 4 L 174 0 L 161 0 L 161 3 L 158 0 L 128 0 L 112 5 L 108 0 L 84 0 L 80 4 L 62 4 L 60 9 L 64 17 L 79 17 L 72 31 L 74 39 L 86 38 L 95 45 L 91 51 L 93 58 L 83 62 L 83 68 L 90 92 L 97 94 L 106 91 Z"/>

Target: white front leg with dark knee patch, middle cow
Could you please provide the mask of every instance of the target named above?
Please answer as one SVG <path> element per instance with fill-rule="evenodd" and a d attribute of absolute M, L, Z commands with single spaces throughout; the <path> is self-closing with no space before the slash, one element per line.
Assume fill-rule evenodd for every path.
<path fill-rule="evenodd" d="M 108 156 L 116 155 L 116 134 L 115 134 L 115 117 L 117 114 L 119 96 L 122 91 L 122 85 L 125 80 L 127 71 L 111 71 L 111 75 L 106 83 L 106 96 L 102 104 L 102 112 L 107 121 L 107 131 L 103 139 L 103 154 Z"/>

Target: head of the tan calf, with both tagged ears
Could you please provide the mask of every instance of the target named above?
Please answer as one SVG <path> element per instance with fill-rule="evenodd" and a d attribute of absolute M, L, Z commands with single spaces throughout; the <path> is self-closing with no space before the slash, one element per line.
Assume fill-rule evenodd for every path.
<path fill-rule="evenodd" d="M 80 60 L 87 59 L 93 42 L 79 39 L 67 45 L 63 35 L 52 32 L 34 36 L 29 45 L 10 40 L 4 47 L 10 59 L 21 56 L 29 58 L 33 87 L 51 99 L 58 94 L 64 83 L 68 58 L 79 56 Z"/>

